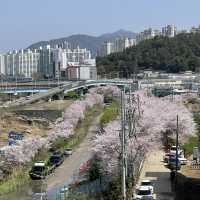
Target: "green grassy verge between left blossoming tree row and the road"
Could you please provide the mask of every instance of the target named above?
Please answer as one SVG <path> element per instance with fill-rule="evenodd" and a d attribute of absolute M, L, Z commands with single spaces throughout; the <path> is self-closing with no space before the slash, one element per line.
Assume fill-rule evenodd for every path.
<path fill-rule="evenodd" d="M 93 108 L 89 109 L 86 112 L 85 119 L 79 122 L 75 129 L 75 135 L 68 139 L 58 139 L 53 145 L 52 148 L 55 150 L 63 150 L 65 148 L 75 148 L 79 145 L 83 139 L 87 136 L 88 130 L 91 126 L 91 123 L 95 117 L 101 114 L 103 107 L 96 105 Z M 30 183 L 31 179 L 29 178 L 29 170 L 32 167 L 32 164 L 36 161 L 48 160 L 51 155 L 50 151 L 41 150 L 33 159 L 32 162 L 28 163 L 26 166 L 21 168 L 16 168 L 13 173 L 3 182 L 0 183 L 0 195 L 7 194 L 9 192 L 16 191 L 18 188 L 23 185 Z"/>

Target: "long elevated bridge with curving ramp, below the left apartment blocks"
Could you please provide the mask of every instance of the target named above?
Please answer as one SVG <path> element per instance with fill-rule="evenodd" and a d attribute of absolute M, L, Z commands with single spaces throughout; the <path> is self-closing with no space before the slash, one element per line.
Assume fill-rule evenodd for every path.
<path fill-rule="evenodd" d="M 44 88 L 9 88 L 7 90 L 0 89 L 0 93 L 20 93 L 20 92 L 29 92 L 32 93 L 28 98 L 23 98 L 21 100 L 12 101 L 2 107 L 18 107 L 24 106 L 27 104 L 34 103 L 39 100 L 51 100 L 51 99 L 63 99 L 64 95 L 71 91 L 87 89 L 89 87 L 96 86 L 105 86 L 105 85 L 116 85 L 116 86 L 130 86 L 133 84 L 132 80 L 91 80 L 91 81 L 77 81 L 77 82 L 68 82 L 58 87 L 52 89 Z M 135 83 L 136 84 L 136 83 Z M 36 94 L 33 94 L 37 92 Z"/>

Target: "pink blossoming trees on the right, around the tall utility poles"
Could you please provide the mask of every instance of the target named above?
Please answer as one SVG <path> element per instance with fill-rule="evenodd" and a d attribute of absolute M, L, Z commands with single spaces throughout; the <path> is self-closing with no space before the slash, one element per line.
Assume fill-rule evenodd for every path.
<path fill-rule="evenodd" d="M 183 141 L 187 136 L 195 133 L 195 123 L 192 113 L 185 107 L 186 96 L 158 98 L 148 96 L 145 91 L 134 94 L 139 99 L 135 110 L 135 136 L 127 142 L 127 158 L 134 162 L 136 156 L 143 156 L 152 148 L 159 148 L 163 132 L 173 134 L 176 131 L 176 118 L 179 116 L 179 133 Z M 93 141 L 93 150 L 102 160 L 106 173 L 115 174 L 120 167 L 120 119 L 110 122 L 104 127 L 101 134 L 96 135 Z"/>

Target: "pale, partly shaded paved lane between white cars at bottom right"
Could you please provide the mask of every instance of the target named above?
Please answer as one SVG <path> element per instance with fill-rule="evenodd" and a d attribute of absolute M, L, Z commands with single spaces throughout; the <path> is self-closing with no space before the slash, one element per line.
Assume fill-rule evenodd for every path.
<path fill-rule="evenodd" d="M 147 156 L 141 172 L 140 180 L 150 179 L 154 183 L 157 200 L 173 200 L 170 183 L 170 171 L 162 162 L 163 152 L 155 151 Z"/>

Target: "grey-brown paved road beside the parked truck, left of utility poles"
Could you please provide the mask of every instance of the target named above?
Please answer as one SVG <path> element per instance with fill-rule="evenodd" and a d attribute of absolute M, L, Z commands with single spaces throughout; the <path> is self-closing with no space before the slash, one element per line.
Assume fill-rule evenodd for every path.
<path fill-rule="evenodd" d="M 47 179 L 47 190 L 50 195 L 58 191 L 60 187 L 64 185 L 67 186 L 74 181 L 74 177 L 76 177 L 80 165 L 92 157 L 90 139 L 94 136 L 96 131 L 98 131 L 99 119 L 100 116 L 94 119 L 84 141 L 76 148 L 75 152 L 56 169 L 55 174 Z"/>

